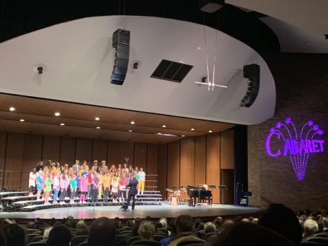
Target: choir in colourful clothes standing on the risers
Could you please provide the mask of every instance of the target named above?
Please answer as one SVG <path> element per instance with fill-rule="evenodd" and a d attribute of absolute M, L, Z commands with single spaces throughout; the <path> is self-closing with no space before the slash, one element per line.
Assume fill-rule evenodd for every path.
<path fill-rule="evenodd" d="M 79 197 L 80 203 L 85 203 L 86 199 L 98 202 L 99 198 L 103 198 L 104 202 L 108 202 L 109 198 L 113 198 L 113 202 L 124 202 L 128 195 L 126 187 L 132 177 L 138 180 L 138 193 L 143 194 L 146 173 L 142 167 L 133 169 L 132 166 L 123 164 L 122 167 L 122 164 L 118 164 L 118 167 L 112 165 L 108 170 L 105 160 L 100 166 L 95 160 L 90 168 L 85 160 L 81 165 L 79 160 L 75 160 L 73 167 L 68 167 L 68 164 L 60 166 L 59 162 L 49 161 L 45 167 L 43 162 L 33 167 L 28 186 L 30 196 L 37 189 L 37 200 L 44 200 L 44 205 L 50 205 L 50 193 L 53 193 L 52 204 L 58 204 L 57 198 L 59 204 L 64 204 L 69 191 L 70 203 L 75 203 L 75 196 Z M 41 191 L 44 191 L 42 197 Z"/>

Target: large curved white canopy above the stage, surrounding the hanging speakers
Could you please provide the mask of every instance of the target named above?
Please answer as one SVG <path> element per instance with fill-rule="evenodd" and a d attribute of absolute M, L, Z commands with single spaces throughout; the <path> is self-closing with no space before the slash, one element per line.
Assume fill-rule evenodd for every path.
<path fill-rule="evenodd" d="M 131 31 L 128 74 L 123 86 L 110 84 L 117 28 Z M 215 37 L 218 44 L 215 50 Z M 91 17 L 61 23 L 0 44 L 0 91 L 135 111 L 197 119 L 258 124 L 273 116 L 276 88 L 265 61 L 223 32 L 157 17 Z M 215 83 L 228 88 L 207 91 L 206 52 Z M 151 78 L 162 59 L 193 66 L 181 84 Z M 133 63 L 139 61 L 137 70 Z M 260 93 L 250 108 L 240 106 L 247 89 L 246 64 L 260 65 Z M 36 64 L 45 64 L 42 75 Z M 210 69 L 211 70 L 211 69 Z"/>

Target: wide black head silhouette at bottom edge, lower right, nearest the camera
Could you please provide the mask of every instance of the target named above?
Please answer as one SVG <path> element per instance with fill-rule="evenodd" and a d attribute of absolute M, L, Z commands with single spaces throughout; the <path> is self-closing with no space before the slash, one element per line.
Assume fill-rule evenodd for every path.
<path fill-rule="evenodd" d="M 252 223 L 236 223 L 218 238 L 220 246 L 293 246 L 294 244 L 267 228 Z"/>

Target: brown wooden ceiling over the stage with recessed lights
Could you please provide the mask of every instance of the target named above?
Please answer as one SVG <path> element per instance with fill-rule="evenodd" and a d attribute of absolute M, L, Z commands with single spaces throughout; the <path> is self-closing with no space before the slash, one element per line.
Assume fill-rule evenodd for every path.
<path fill-rule="evenodd" d="M 10 111 L 11 106 L 15 111 Z M 60 116 L 55 116 L 59 112 Z M 95 120 L 99 117 L 99 121 Z M 25 120 L 21 122 L 20 120 Z M 131 124 L 134 121 L 135 124 Z M 64 126 L 60 124 L 64 123 Z M 163 128 L 163 124 L 166 128 Z M 97 126 L 100 129 L 97 129 Z M 185 136 L 218 133 L 233 124 L 0 93 L 1 131 L 108 140 L 167 143 Z M 191 131 L 191 129 L 195 131 Z M 132 130 L 130 132 L 129 130 Z M 162 133 L 161 135 L 156 133 Z M 175 136 L 168 136 L 171 134 Z"/>

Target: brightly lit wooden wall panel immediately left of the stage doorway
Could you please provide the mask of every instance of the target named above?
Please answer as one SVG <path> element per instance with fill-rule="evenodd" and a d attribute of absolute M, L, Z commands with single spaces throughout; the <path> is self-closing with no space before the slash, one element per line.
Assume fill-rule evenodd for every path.
<path fill-rule="evenodd" d="M 220 185 L 220 133 L 206 136 L 206 184 L 216 185 L 213 189 L 213 203 L 219 202 Z"/>

